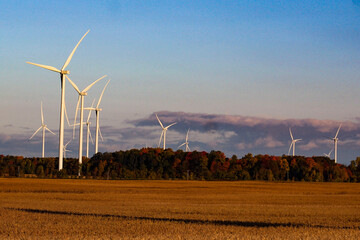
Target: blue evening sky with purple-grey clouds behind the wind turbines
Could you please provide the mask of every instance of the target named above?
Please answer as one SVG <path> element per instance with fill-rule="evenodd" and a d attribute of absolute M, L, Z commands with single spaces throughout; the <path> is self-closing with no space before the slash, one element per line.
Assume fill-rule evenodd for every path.
<path fill-rule="evenodd" d="M 322 155 L 343 123 L 339 162 L 360 156 L 359 0 L 0 0 L 1 154 L 41 155 L 41 135 L 28 140 L 41 101 L 58 134 L 59 76 L 26 61 L 61 68 L 88 29 L 68 70 L 80 89 L 108 75 L 86 106 L 111 79 L 100 151 L 157 146 L 158 113 L 178 122 L 167 136 L 173 149 L 190 128 L 191 149 L 282 155 L 291 127 L 303 139 L 297 154 Z M 66 84 L 73 121 L 77 94 Z M 57 156 L 57 144 L 47 134 L 45 154 Z M 76 135 L 67 155 L 77 144 Z"/>

